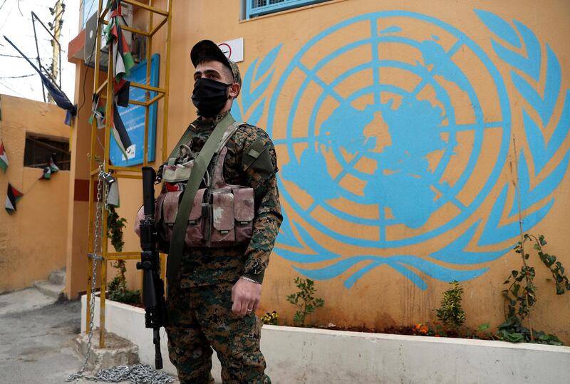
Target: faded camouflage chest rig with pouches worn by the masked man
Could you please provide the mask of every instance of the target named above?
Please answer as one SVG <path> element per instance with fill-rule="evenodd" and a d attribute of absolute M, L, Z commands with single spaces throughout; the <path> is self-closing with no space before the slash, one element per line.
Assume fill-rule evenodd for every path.
<path fill-rule="evenodd" d="M 252 238 L 254 190 L 224 180 L 226 144 L 242 124 L 228 113 L 198 154 L 187 145 L 192 137 L 192 132 L 187 132 L 177 144 L 179 150 L 173 151 L 162 167 L 164 185 L 155 201 L 155 219 L 160 248 L 169 254 L 169 279 L 177 273 L 185 246 L 230 247 Z M 210 163 L 212 175 L 207 172 Z M 135 232 L 142 216 L 141 208 Z"/>

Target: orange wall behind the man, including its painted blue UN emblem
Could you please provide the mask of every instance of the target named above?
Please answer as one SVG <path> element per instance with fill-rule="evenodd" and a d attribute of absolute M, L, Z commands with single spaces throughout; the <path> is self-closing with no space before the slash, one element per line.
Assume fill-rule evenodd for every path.
<path fill-rule="evenodd" d="M 165 1 L 155 3 L 163 6 Z M 276 310 L 281 318 L 291 322 L 294 308 L 286 302 L 285 296 L 295 291 L 294 277 L 306 275 L 316 276 L 318 296 L 326 301 L 324 308 L 312 317 L 316 323 L 382 329 L 434 321 L 435 309 L 439 306 L 442 291 L 447 289 L 447 281 L 459 276 L 465 289 L 463 306 L 467 313 L 467 324 L 477 326 L 489 321 L 492 326 L 497 326 L 504 316 L 502 283 L 510 271 L 518 269 L 520 264 L 514 252 L 508 249 L 517 242 L 518 213 L 514 185 L 517 177 L 524 179 L 524 171 L 529 174 L 528 185 L 524 184 L 524 180 L 520 182 L 524 203 L 523 223 L 529 227 L 525 227 L 525 231 L 544 234 L 549 241 L 546 251 L 559 256 L 566 266 L 570 265 L 570 257 L 565 252 L 569 245 L 566 234 L 570 229 L 567 219 L 570 188 L 566 175 L 569 143 L 568 128 L 564 123 L 565 108 L 569 108 L 570 103 L 567 93 L 570 86 L 570 50 L 567 41 L 570 6 L 567 1 L 551 1 L 546 8 L 527 0 L 397 3 L 337 0 L 249 21 L 239 20 L 239 1 L 216 1 L 215 6 L 212 1 L 174 3 L 169 150 L 187 124 L 195 118 L 195 108 L 190 103 L 194 69 L 189 62 L 190 48 L 194 43 L 202 38 L 227 41 L 243 37 L 245 60 L 239 63 L 239 68 L 244 82 L 251 81 L 249 93 L 252 95 L 252 89 L 261 87 L 257 98 L 249 100 L 249 108 L 244 108 L 243 91 L 238 100 L 245 120 L 251 119 L 259 106 L 261 114 L 257 125 L 269 128 L 276 141 L 287 226 L 283 228 L 271 256 L 260 311 Z M 481 14 L 475 11 L 477 9 L 489 11 L 495 17 L 488 16 L 487 25 Z M 380 14 L 383 11 L 399 13 Z M 370 16 L 366 19 L 363 15 Z M 497 21 L 497 17 L 503 22 Z M 353 18 L 356 21 L 348 21 Z M 358 18 L 364 20 L 358 21 L 361 20 Z M 135 24 L 141 27 L 144 21 L 138 18 Z M 335 26 L 334 31 L 328 30 Z M 408 42 L 415 43 L 403 44 L 401 40 L 389 41 L 388 38 L 379 41 L 377 48 L 371 50 L 373 44 L 366 40 L 371 33 L 406 38 Z M 439 56 L 427 56 L 437 53 L 440 48 L 451 50 L 457 43 L 457 36 L 466 37 L 458 50 L 450 53 L 452 63 L 442 66 L 442 62 L 437 60 Z M 162 58 L 165 53 L 164 37 L 161 31 L 153 42 L 154 50 Z M 519 46 L 517 39 L 522 41 Z M 465 43 L 467 40 L 469 43 Z M 346 54 L 338 54 L 330 63 L 316 67 L 327 55 L 355 41 L 362 43 L 349 49 Z M 497 48 L 497 45 L 504 49 Z M 278 46 L 281 48 L 275 61 L 265 62 L 269 70 L 259 73 L 258 77 L 248 78 L 248 71 L 251 71 L 250 74 L 261 71 L 260 63 Z M 421 51 L 420 46 L 429 49 Z M 302 51 L 304 48 L 306 50 Z M 511 53 L 504 53 L 504 50 Z M 456 133 L 442 134 L 438 136 L 439 139 L 436 137 L 445 144 L 450 142 L 450 137 L 456 140 L 451 152 L 447 152 L 450 163 L 445 172 L 438 176 L 440 181 L 451 186 L 460 182 L 472 158 L 470 154 L 479 151 L 479 157 L 473 160 L 475 165 L 466 174 L 467 182 L 456 191 L 456 199 L 442 207 L 436 209 L 433 204 L 434 209 L 425 209 L 445 191 L 430 189 L 432 200 L 425 200 L 425 196 L 431 196 L 431 192 L 418 187 L 415 194 L 412 183 L 413 177 L 422 179 L 434 175 L 446 150 L 425 150 L 422 146 L 425 141 L 422 140 L 430 137 L 421 136 L 422 133 L 416 131 L 404 135 L 402 141 L 398 142 L 398 135 L 390 131 L 387 116 L 400 108 L 402 98 L 380 91 L 378 100 L 373 93 L 364 93 L 354 98 L 350 107 L 338 101 L 370 86 L 371 81 L 397 86 L 406 93 L 412 93 L 420 84 L 421 76 L 410 74 L 413 71 L 393 68 L 390 64 L 385 70 L 379 71 L 378 78 L 375 77 L 375 70 L 368 68 L 366 71 L 356 71 L 345 81 L 334 83 L 332 89 L 327 88 L 343 73 L 371 61 L 373 55 L 390 63 L 402 61 L 408 65 L 407 68 L 425 68 L 426 73 L 435 71 L 432 74 L 433 84 L 439 84 L 441 92 L 445 90 L 449 95 L 449 102 L 445 102 L 431 86 L 418 89 L 415 96 L 415 100 L 430 103 L 431 109 L 428 110 L 436 110 L 440 117 L 443 116 L 440 121 L 442 126 L 451 125 L 451 106 L 455 110 L 456 125 L 465 128 L 458 129 Z M 532 64 L 524 61 L 529 55 L 537 58 Z M 496 69 L 489 70 L 483 64 L 483 56 L 487 58 L 485 63 L 489 68 Z M 292 68 L 291 71 L 288 68 Z M 457 73 L 452 75 L 453 71 L 461 71 L 472 85 L 480 101 L 478 107 L 474 106 L 465 90 L 467 88 L 462 88 L 461 81 L 455 84 L 450 81 L 453 76 L 456 76 L 456 80 L 459 76 Z M 559 75 L 556 76 L 556 73 Z M 160 78 L 164 78 L 164 65 L 161 65 Z M 307 81 L 306 88 L 302 88 L 304 81 Z M 328 96 L 318 107 L 320 109 L 315 121 L 311 122 L 311 112 L 317 108 L 323 90 Z M 390 98 L 393 99 L 392 112 L 385 106 Z M 507 101 L 502 103 L 501 100 Z M 342 106 L 344 109 L 340 108 Z M 358 123 L 358 118 L 367 106 L 376 110 L 368 115 L 372 116 L 372 120 L 365 119 L 365 127 Z M 296 115 L 293 116 L 291 110 L 295 108 Z M 502 126 L 507 110 L 510 120 Z M 159 158 L 161 113 L 159 108 Z M 334 113 L 338 113 L 339 117 L 336 118 Z M 414 113 L 412 108 L 408 116 Z M 400 115 L 400 120 L 403 117 Z M 495 126 L 485 126 L 477 136 L 470 133 L 468 127 L 477 124 L 477 119 L 481 124 L 494 123 Z M 290 130 L 288 121 L 291 121 Z M 392 123 L 394 128 L 399 124 L 398 119 L 393 119 Z M 422 123 L 423 120 L 418 120 L 418 124 Z M 509 132 L 505 133 L 507 125 Z M 535 125 L 537 129 L 533 129 Z M 562 128 L 556 130 L 559 125 Z M 402 127 L 401 124 L 398 126 Z M 320 135 L 319 130 L 328 130 L 328 135 L 332 135 L 337 144 L 342 141 L 338 137 L 344 137 L 346 142 L 335 147 L 328 145 L 325 140 L 318 144 L 309 144 L 310 140 L 304 140 L 311 132 Z M 343 133 L 348 135 L 343 136 Z M 357 142 L 356 147 L 350 147 L 350 140 L 358 137 L 359 133 L 372 137 L 375 145 Z M 517 153 L 524 153 L 525 162 L 521 157 L 514 156 L 513 138 L 516 140 Z M 432 137 L 432 140 L 436 139 Z M 544 140 L 544 144 L 541 140 Z M 552 143 L 550 147 L 549 142 Z M 408 153 L 406 145 L 410 145 Z M 423 173 L 414 175 L 408 172 L 403 179 L 390 178 L 400 170 L 398 165 L 382 168 L 382 161 L 389 162 L 390 158 L 381 154 L 389 151 L 390 147 L 395 151 L 395 159 L 398 156 L 404 160 L 410 158 L 410 151 L 428 152 L 413 163 L 418 167 L 425 160 L 425 166 L 417 169 Z M 344 193 L 342 196 L 331 195 L 320 199 L 319 196 L 327 192 L 326 185 L 323 184 L 323 190 L 315 192 L 306 179 L 295 176 L 293 172 L 304 172 L 306 178 L 310 178 L 310 170 L 315 170 L 316 180 L 327 182 L 328 179 L 321 177 L 321 174 L 328 173 L 331 177 L 341 175 L 343 167 L 361 152 L 366 158 L 351 165 L 358 172 L 348 172 L 350 175 L 338 180 L 338 190 Z M 312 162 L 303 157 L 304 153 L 313 153 Z M 296 162 L 306 166 L 306 169 L 294 167 Z M 383 170 L 383 173 L 375 173 L 378 170 Z M 377 179 L 373 178 L 375 175 L 378 175 Z M 385 190 L 389 192 L 385 205 L 382 205 L 382 194 L 378 192 L 383 187 L 378 186 L 375 180 L 385 180 Z M 367 185 L 375 185 L 375 190 L 367 190 Z M 401 189 L 398 189 L 399 186 Z M 119 209 L 120 214 L 129 220 L 125 250 L 138 247 L 138 239 L 130 234 L 130 228 L 136 208 L 140 205 L 139 190 L 135 182 L 121 182 L 122 196 L 133 197 L 128 201 L 122 198 L 124 204 Z M 367 194 L 377 201 L 368 201 Z M 394 196 L 398 194 L 400 196 Z M 420 195 L 424 197 L 423 200 L 420 200 Z M 390 202 L 403 204 L 390 207 Z M 410 214 L 414 204 L 418 216 L 422 212 L 425 219 L 420 220 L 413 213 Z M 385 209 L 380 209 L 380 206 Z M 406 212 L 400 209 L 403 206 L 408 207 L 407 217 Z M 461 216 L 463 211 L 470 213 Z M 387 225 L 385 232 L 379 232 L 378 225 L 373 223 L 373 220 L 379 219 L 379 215 L 400 222 Z M 454 222 L 455 217 L 460 219 Z M 489 219 L 491 217 L 498 217 L 498 222 L 494 223 Z M 355 259 L 358 257 L 361 259 Z M 539 265 L 535 256 L 532 256 L 531 263 L 537 267 L 536 283 L 539 287 L 533 326 L 570 342 L 567 322 L 570 294 L 556 296 L 544 266 Z M 327 275 L 325 271 L 330 273 Z M 140 279 L 138 271 L 130 268 L 128 279 L 131 286 L 136 286 Z"/>

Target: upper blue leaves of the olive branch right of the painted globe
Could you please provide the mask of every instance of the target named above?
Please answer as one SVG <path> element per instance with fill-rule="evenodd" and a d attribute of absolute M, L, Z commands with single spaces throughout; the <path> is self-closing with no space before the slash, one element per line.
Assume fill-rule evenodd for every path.
<path fill-rule="evenodd" d="M 558 57 L 548 43 L 544 45 L 546 51 L 546 73 L 544 78 L 541 78 L 541 45 L 534 32 L 517 20 L 513 21 L 516 27 L 513 28 L 507 21 L 489 11 L 475 10 L 475 12 L 485 26 L 489 28 L 489 31 L 496 36 L 491 38 L 494 52 L 504 63 L 511 67 L 510 76 L 512 83 L 517 88 L 519 95 L 527 101 L 527 106 L 522 108 L 522 118 L 529 153 L 526 153 L 525 150 L 520 151 L 517 169 L 521 192 L 521 209 L 523 212 L 527 212 L 549 197 L 558 187 L 564 175 L 566 175 L 570 151 L 564 154 L 564 157 L 554 167 L 554 170 L 551 172 L 544 172 L 544 170 L 546 165 L 556 157 L 562 143 L 568 136 L 570 129 L 570 90 L 566 89 L 564 98 L 559 98 L 562 91 L 561 66 Z M 524 48 L 526 55 L 518 53 L 514 49 L 509 48 L 509 46 Z M 528 76 L 532 81 L 527 80 L 524 76 Z M 539 92 L 540 83 L 544 83 L 542 95 Z M 554 110 L 559 102 L 563 105 L 562 113 L 556 128 L 554 128 L 554 132 L 549 140 L 546 141 L 547 125 L 554 123 Z M 539 117 L 539 122 L 532 118 L 532 114 L 529 113 L 527 108 L 535 110 Z M 540 128 L 540 125 L 543 128 Z M 530 155 L 529 160 L 532 160 L 534 165 L 534 175 L 529 171 L 528 155 Z M 532 176 L 534 177 L 532 178 Z M 533 179 L 541 180 L 541 182 L 531 187 Z M 510 222 L 510 224 L 499 227 L 499 221 L 502 221 L 502 212 L 507 204 L 507 190 L 508 185 L 505 184 L 502 192 L 499 194 L 499 198 L 492 207 L 489 219 L 477 243 L 478 245 L 500 244 L 517 236 L 519 232 L 518 223 L 513 222 L 518 212 L 516 195 L 514 196 L 509 215 L 504 219 L 504 221 Z M 551 198 L 539 209 L 525 214 L 523 230 L 528 231 L 544 219 L 553 204 L 554 198 Z"/>

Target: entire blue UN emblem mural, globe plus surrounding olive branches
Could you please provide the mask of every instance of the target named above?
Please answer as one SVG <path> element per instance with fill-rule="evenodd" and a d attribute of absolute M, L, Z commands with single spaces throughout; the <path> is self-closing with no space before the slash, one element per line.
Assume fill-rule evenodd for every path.
<path fill-rule="evenodd" d="M 232 113 L 266 113 L 276 254 L 301 274 L 347 288 L 381 266 L 420 289 L 474 279 L 516 242 L 519 207 L 525 231 L 548 214 L 569 162 L 559 60 L 518 21 L 476 13 L 492 52 L 458 26 L 383 11 L 326 28 L 283 73 L 281 46 L 252 62 Z"/>

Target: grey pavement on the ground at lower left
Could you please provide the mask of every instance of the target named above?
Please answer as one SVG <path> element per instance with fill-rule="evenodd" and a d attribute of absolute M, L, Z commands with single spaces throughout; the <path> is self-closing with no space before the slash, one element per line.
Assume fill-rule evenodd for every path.
<path fill-rule="evenodd" d="M 54 301 L 33 288 L 0 295 L 0 383 L 66 383 L 81 367 L 81 303 Z"/>

